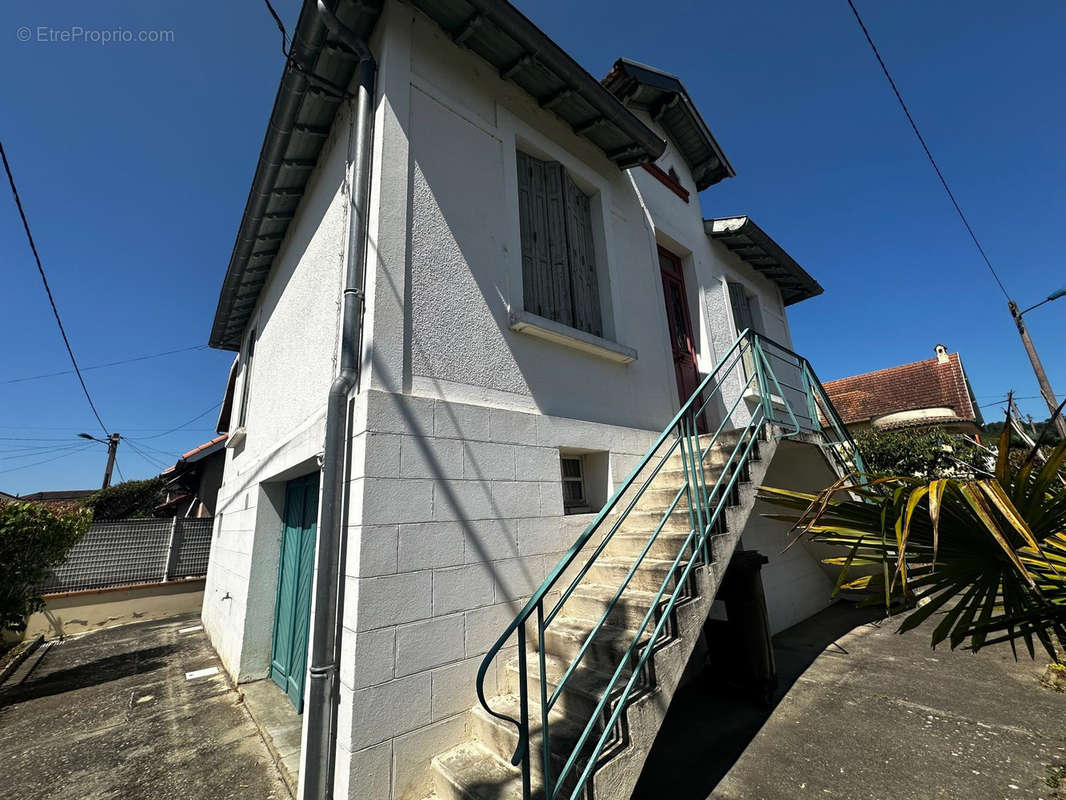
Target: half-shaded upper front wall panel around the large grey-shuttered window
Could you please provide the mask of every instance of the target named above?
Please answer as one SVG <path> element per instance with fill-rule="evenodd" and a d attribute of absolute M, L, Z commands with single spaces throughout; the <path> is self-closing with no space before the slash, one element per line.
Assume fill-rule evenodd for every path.
<path fill-rule="evenodd" d="M 613 276 L 615 291 L 603 275 L 599 286 L 605 297 L 624 293 L 630 307 L 643 304 L 649 330 L 635 332 L 630 324 L 627 336 L 637 340 L 624 342 L 640 346 L 640 362 L 614 364 L 512 332 L 510 305 L 520 305 L 523 287 L 512 285 L 521 282 L 521 272 L 508 267 L 520 261 L 512 252 L 520 244 L 501 234 L 516 227 L 508 209 L 517 211 L 517 199 L 506 196 L 504 170 L 514 167 L 502 157 L 505 145 L 418 90 L 411 91 L 411 116 L 422 123 L 409 131 L 409 229 L 419 236 L 408 239 L 405 265 L 405 388 L 413 377 L 439 379 L 507 393 L 545 414 L 661 429 L 675 400 L 653 249 L 646 270 Z M 635 260 L 615 255 L 619 263 Z M 625 311 L 615 307 L 613 314 Z M 642 390 L 625 391 L 634 381 Z"/>

